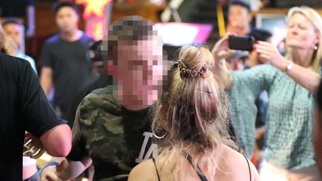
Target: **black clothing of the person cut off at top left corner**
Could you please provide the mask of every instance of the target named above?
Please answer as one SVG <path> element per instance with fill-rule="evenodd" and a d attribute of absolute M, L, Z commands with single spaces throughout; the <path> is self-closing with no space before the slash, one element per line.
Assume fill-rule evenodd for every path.
<path fill-rule="evenodd" d="M 35 0 L 0 0 L 1 17 L 26 17 L 28 5 L 35 5 Z"/>

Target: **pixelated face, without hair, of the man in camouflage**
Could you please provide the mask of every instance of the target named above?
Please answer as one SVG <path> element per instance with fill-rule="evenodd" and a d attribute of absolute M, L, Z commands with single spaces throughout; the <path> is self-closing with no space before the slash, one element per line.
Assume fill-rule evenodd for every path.
<path fill-rule="evenodd" d="M 162 81 L 167 70 L 161 39 L 118 41 L 117 99 L 129 110 L 152 105 L 162 93 Z"/>

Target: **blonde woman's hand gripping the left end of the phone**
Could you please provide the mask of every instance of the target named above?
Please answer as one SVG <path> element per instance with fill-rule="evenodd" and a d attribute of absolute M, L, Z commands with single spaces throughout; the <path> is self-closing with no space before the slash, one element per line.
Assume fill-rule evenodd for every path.
<path fill-rule="evenodd" d="M 227 58 L 228 56 L 234 54 L 236 51 L 229 49 L 228 39 L 230 35 L 234 35 L 232 33 L 227 33 L 224 37 L 222 37 L 214 46 L 212 53 L 215 58 L 215 62 L 218 63 L 219 60 L 223 58 Z"/>

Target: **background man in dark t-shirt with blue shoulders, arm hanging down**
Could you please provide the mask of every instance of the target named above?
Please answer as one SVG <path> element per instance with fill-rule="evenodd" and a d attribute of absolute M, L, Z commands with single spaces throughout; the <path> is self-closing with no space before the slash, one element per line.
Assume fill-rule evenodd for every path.
<path fill-rule="evenodd" d="M 54 108 L 66 119 L 68 107 L 91 74 L 88 55 L 93 41 L 77 28 L 78 9 L 75 4 L 56 4 L 56 23 L 60 32 L 49 38 L 40 56 L 41 84 L 48 95 L 54 87 Z"/>

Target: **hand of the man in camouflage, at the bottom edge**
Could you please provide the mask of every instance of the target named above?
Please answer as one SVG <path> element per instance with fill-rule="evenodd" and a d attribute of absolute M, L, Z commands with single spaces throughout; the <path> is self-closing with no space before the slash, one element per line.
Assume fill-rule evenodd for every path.
<path fill-rule="evenodd" d="M 66 160 L 63 160 L 59 165 L 49 166 L 42 170 L 40 175 L 41 181 L 61 181 L 58 177 L 68 167 Z"/>

